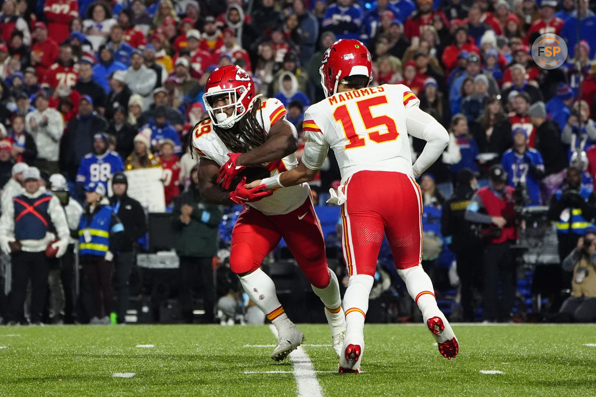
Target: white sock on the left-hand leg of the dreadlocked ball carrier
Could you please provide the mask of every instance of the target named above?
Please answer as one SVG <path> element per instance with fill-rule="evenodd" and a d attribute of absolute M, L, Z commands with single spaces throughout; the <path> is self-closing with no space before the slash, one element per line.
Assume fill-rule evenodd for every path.
<path fill-rule="evenodd" d="M 238 278 L 244 288 L 244 292 L 265 313 L 275 328 L 279 329 L 280 326 L 290 322 L 284 312 L 284 308 L 277 299 L 273 280 L 264 271 L 258 268 L 253 273 Z"/>

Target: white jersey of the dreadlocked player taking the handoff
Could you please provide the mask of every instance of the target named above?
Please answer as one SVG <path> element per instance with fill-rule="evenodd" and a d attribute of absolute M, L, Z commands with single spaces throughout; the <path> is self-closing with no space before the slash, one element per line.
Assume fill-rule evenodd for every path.
<path fill-rule="evenodd" d="M 269 133 L 271 126 L 277 123 L 287 113 L 284 105 L 278 99 L 271 98 L 263 101 L 256 119 L 262 125 L 266 133 Z M 194 127 L 193 131 L 193 146 L 195 151 L 201 157 L 208 158 L 215 161 L 220 167 L 229 160 L 228 153 L 232 152 L 224 145 L 224 142 L 219 138 L 217 133 L 212 128 L 210 119 L 203 121 Z M 298 165 L 296 154 L 293 153 L 284 157 L 280 161 L 263 164 L 271 171 L 271 176 L 282 173 L 283 171 L 291 170 Z M 306 198 L 310 194 L 308 183 L 302 185 L 282 187 L 275 190 L 275 192 L 264 199 L 256 202 L 247 203 L 251 207 L 263 212 L 265 215 L 283 215 L 288 212 L 296 210 L 300 205 L 304 204 Z"/>

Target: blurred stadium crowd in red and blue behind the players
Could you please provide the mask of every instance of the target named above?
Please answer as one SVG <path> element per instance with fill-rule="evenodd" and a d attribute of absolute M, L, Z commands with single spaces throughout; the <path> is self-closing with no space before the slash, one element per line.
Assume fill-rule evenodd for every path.
<path fill-rule="evenodd" d="M 470 182 L 461 177 L 462 170 L 473 173 L 477 186 L 486 186 L 491 166 L 501 164 L 507 184 L 516 187 L 522 199 L 517 203 L 521 229 L 532 227 L 521 221 L 522 208 L 545 206 L 548 221 L 557 225 L 559 263 L 591 230 L 596 215 L 594 11 L 596 3 L 588 0 L 5 0 L 0 10 L 3 216 L 5 198 L 12 205 L 12 196 L 21 193 L 23 175 L 35 176 L 26 174 L 23 164 L 41 170 L 48 190 L 53 189 L 49 176 L 63 175 L 66 184 L 54 190 L 68 191 L 83 204 L 89 192 L 107 196 L 107 190 L 89 183 L 107 187 L 120 171 L 162 167 L 171 211 L 182 192 L 194 189 L 191 170 L 198 158 L 191 156 L 188 132 L 207 117 L 202 95 L 211 71 L 228 64 L 244 68 L 252 74 L 257 93 L 283 102 L 288 120 L 302 136 L 304 111 L 324 98 L 319 84 L 323 52 L 337 39 L 355 38 L 373 56 L 371 84 L 408 86 L 420 98 L 420 107 L 449 130 L 448 148 L 419 183 L 425 205 L 424 264 L 442 290 L 437 298 L 443 296 L 446 305 L 457 307 L 461 297 L 449 251 L 449 234 L 454 232 L 443 233 L 441 217 L 458 183 Z M 542 33 L 557 33 L 566 40 L 569 57 L 562 67 L 544 70 L 533 62 L 530 46 Z M 411 139 L 412 160 L 423 145 Z M 570 166 L 582 176 L 581 186 L 573 189 L 567 184 Z M 331 153 L 312 182 L 319 215 L 328 218 L 330 252 L 341 242 L 335 232 L 337 211 L 325 207 L 325 200 L 339 179 Z M 569 190 L 577 190 L 581 198 L 566 194 Z M 570 211 L 566 218 L 565 209 Z M 238 208 L 217 211 L 224 213 L 219 239 L 225 248 Z M 175 212 L 190 221 L 182 205 Z M 70 229 L 77 233 L 78 221 L 74 224 Z M 330 254 L 330 260 L 338 262 L 341 273 L 339 252 Z M 280 255 L 283 247 L 275 258 Z M 224 254 L 220 257 L 216 262 L 225 261 Z M 376 297 L 386 298 L 370 318 L 405 321 L 415 313 L 395 298 L 402 287 L 387 258 L 390 252 L 381 249 Z M 4 273 L 10 268 L 6 261 Z M 523 274 L 518 272 L 517 279 L 531 279 L 532 270 L 526 270 L 520 270 Z M 222 277 L 234 284 L 228 276 Z M 563 287 L 569 288 L 571 278 Z M 33 278 L 31 282 L 39 284 Z M 482 282 L 474 285 L 479 289 Z M 537 310 L 536 296 L 520 292 L 524 284 L 519 280 L 517 287 L 516 311 L 526 307 L 527 314 L 532 311 L 528 306 Z M 62 288 L 72 290 L 72 280 Z M 10 291 L 10 285 L 4 291 Z M 217 294 L 241 301 L 235 292 L 218 286 Z M 0 295 L 2 317 L 8 321 L 10 302 Z M 465 296 L 478 299 L 477 293 Z M 32 307 L 49 305 L 45 295 L 36 299 Z M 538 307 L 541 304 L 538 298 Z M 62 316 L 63 306 L 58 310 Z M 479 307 L 475 304 L 465 319 L 481 320 Z M 116 309 L 104 305 L 104 312 L 91 312 L 86 320 L 105 321 L 111 310 Z M 452 315 L 465 317 L 457 310 Z M 64 318 L 33 313 L 29 320 Z"/>

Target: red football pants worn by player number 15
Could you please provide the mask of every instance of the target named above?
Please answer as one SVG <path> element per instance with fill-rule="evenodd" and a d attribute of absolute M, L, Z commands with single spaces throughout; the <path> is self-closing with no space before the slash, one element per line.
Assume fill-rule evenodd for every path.
<path fill-rule="evenodd" d="M 422 260 L 422 195 L 414 178 L 398 172 L 359 171 L 343 186 L 343 255 L 349 276 L 374 276 L 383 235 L 397 269 Z"/>

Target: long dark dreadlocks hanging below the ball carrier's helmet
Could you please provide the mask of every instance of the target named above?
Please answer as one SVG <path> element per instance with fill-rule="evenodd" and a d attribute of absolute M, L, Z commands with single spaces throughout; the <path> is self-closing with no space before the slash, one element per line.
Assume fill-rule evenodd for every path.
<path fill-rule="evenodd" d="M 257 98 L 254 101 L 252 110 L 229 130 L 213 126 L 213 130 L 219 136 L 219 139 L 232 152 L 246 153 L 262 145 L 267 139 L 265 129 L 261 127 L 261 125 L 265 125 L 265 122 L 263 121 L 263 112 L 259 111 L 260 105 L 261 100 Z M 259 124 L 259 121 L 257 121 L 257 111 L 260 112 L 262 124 Z"/>

